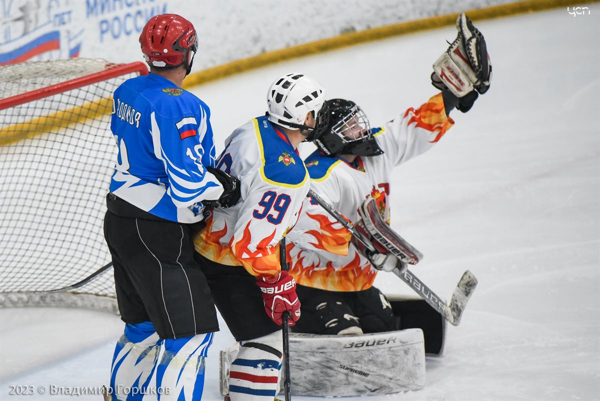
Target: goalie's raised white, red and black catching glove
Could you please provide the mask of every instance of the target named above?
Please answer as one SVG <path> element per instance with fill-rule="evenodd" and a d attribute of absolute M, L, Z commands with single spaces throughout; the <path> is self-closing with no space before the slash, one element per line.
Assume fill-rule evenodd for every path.
<path fill-rule="evenodd" d="M 466 113 L 479 94 L 490 88 L 490 55 L 484 35 L 473 26 L 469 17 L 460 14 L 456 28 L 456 39 L 433 64 L 431 84 L 442 90 L 445 101 L 449 98 L 454 103 L 452 106 Z"/>

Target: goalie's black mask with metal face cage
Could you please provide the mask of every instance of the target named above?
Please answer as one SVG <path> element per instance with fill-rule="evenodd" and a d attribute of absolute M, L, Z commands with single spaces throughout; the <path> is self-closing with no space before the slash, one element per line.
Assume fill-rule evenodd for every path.
<path fill-rule="evenodd" d="M 383 154 L 373 137 L 368 118 L 358 104 L 345 99 L 332 99 L 325 103 L 329 113 L 328 126 L 314 140 L 320 151 L 329 156 Z"/>

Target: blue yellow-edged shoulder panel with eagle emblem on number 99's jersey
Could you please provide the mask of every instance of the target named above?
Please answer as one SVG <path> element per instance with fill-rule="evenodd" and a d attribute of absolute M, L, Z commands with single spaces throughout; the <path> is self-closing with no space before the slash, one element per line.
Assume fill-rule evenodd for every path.
<path fill-rule="evenodd" d="M 287 136 L 276 130 L 266 116 L 252 119 L 251 124 L 262 161 L 262 179 L 284 187 L 301 187 L 306 184 L 308 172 Z"/>

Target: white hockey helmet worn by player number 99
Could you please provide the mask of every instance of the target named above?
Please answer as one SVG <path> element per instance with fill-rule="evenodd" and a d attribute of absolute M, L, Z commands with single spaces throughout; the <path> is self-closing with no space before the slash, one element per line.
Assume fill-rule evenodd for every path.
<path fill-rule="evenodd" d="M 326 127 L 324 113 L 325 89 L 313 78 L 304 74 L 286 74 L 271 84 L 266 95 L 269 121 L 292 130 L 308 131 L 307 140 L 314 140 Z M 306 115 L 313 112 L 317 124 L 304 125 Z"/>

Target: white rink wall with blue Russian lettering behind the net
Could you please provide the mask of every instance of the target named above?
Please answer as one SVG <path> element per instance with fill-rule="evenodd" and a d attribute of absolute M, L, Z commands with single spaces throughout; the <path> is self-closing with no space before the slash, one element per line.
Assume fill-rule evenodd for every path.
<path fill-rule="evenodd" d="M 0 65 L 74 56 L 142 61 L 137 38 L 155 14 L 193 22 L 199 71 L 344 32 L 511 0 L 2 0 Z"/>

